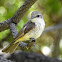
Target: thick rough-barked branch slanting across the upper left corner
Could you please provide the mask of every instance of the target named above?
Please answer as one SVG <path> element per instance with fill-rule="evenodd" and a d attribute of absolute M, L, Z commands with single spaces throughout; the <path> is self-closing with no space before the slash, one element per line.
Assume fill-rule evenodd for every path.
<path fill-rule="evenodd" d="M 17 10 L 17 12 L 11 17 L 0 23 L 0 32 L 9 28 L 9 23 L 13 22 L 17 24 L 28 9 L 36 2 L 37 0 L 26 0 L 25 3 Z"/>

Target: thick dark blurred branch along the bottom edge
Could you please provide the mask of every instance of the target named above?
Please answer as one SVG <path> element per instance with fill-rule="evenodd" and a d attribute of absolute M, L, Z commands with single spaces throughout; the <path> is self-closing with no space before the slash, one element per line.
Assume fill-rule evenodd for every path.
<path fill-rule="evenodd" d="M 15 60 L 16 62 L 62 62 L 57 58 L 51 58 L 37 53 L 21 51 L 16 51 L 8 59 Z"/>

